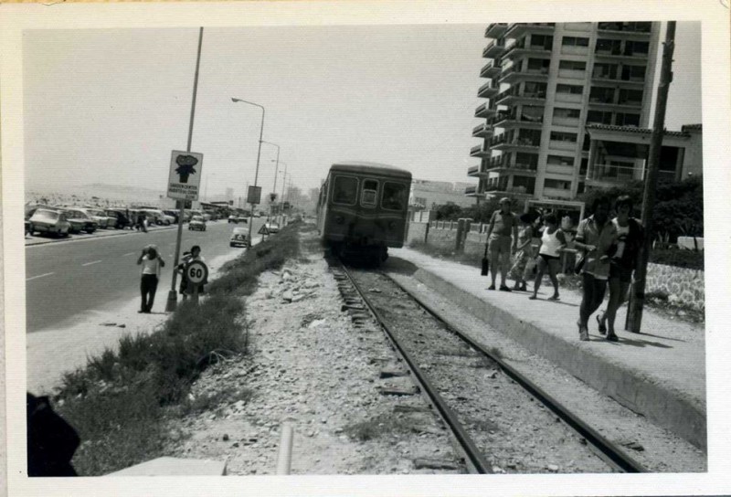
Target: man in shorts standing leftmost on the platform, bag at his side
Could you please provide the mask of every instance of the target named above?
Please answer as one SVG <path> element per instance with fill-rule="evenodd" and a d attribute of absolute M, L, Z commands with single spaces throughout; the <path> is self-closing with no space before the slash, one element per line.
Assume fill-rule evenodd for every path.
<path fill-rule="evenodd" d="M 500 270 L 500 290 L 510 291 L 506 279 L 510 267 L 511 239 L 512 250 L 515 251 L 518 245 L 518 218 L 510 211 L 510 198 L 504 197 L 500 200 L 500 209 L 490 217 L 490 226 L 487 228 L 487 249 L 493 267 L 493 280 L 488 290 L 495 290 L 495 280 Z"/>

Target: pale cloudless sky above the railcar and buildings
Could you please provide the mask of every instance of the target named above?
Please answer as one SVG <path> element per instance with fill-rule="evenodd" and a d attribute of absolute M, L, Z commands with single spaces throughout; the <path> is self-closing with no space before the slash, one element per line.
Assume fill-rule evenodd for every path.
<path fill-rule="evenodd" d="M 201 193 L 243 196 L 263 139 L 306 193 L 330 164 L 365 160 L 419 179 L 474 182 L 471 130 L 484 122 L 484 24 L 249 26 L 204 29 L 193 152 Z M 678 23 L 665 126 L 701 122 L 700 23 Z M 661 39 L 664 39 L 662 34 Z M 23 35 L 26 189 L 103 183 L 167 186 L 185 150 L 197 28 L 50 29 Z M 659 73 L 659 71 L 658 71 Z M 256 178 L 273 191 L 277 148 Z"/>

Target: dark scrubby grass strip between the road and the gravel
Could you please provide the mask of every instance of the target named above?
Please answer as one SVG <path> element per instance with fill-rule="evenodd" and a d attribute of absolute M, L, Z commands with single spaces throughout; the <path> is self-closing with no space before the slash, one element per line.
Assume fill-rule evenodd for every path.
<path fill-rule="evenodd" d="M 188 394 L 207 367 L 246 354 L 249 320 L 241 296 L 256 289 L 261 272 L 298 257 L 299 225 L 284 227 L 226 264 L 199 305 L 181 302 L 158 330 L 125 335 L 116 352 L 108 348 L 64 376 L 55 407 L 79 432 L 81 445 L 72 461 L 79 475 L 107 474 L 160 457 L 168 423 L 249 401 L 252 393 L 245 386 L 195 398 Z"/>

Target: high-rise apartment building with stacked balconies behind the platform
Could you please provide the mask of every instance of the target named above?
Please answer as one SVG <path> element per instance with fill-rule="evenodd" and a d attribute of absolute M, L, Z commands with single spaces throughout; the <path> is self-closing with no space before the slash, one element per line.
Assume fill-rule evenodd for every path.
<path fill-rule="evenodd" d="M 660 23 L 493 23 L 466 196 L 570 202 L 587 187 L 588 126 L 647 128 Z M 642 158 L 632 167 L 641 167 Z"/>

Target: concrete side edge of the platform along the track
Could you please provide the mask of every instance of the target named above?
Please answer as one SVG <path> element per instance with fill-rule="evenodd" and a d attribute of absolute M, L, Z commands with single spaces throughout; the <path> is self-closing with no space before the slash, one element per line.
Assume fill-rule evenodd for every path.
<path fill-rule="evenodd" d="M 428 270 L 419 269 L 413 276 L 451 301 L 459 301 L 465 311 L 490 323 L 532 353 L 546 357 L 623 406 L 652 419 L 695 447 L 707 450 L 705 408 L 685 398 L 683 392 L 663 386 L 660 378 L 631 370 L 626 365 L 614 364 L 606 357 L 582 348 L 578 332 L 576 342 L 546 333 L 540 323 L 505 312 L 492 302 L 482 300 Z"/>

